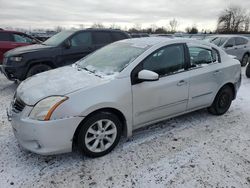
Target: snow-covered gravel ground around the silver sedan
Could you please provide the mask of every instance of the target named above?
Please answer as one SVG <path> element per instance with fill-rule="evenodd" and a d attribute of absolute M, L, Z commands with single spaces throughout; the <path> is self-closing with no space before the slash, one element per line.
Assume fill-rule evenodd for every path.
<path fill-rule="evenodd" d="M 250 79 L 245 75 L 225 115 L 200 110 L 152 125 L 97 159 L 22 151 L 5 112 L 15 89 L 0 74 L 1 188 L 250 187 Z"/>

